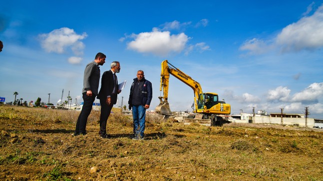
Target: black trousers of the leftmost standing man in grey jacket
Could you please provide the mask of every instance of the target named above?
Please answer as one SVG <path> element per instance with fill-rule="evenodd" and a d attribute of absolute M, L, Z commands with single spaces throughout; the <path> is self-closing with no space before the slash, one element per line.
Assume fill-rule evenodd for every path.
<path fill-rule="evenodd" d="M 76 133 L 86 133 L 86 122 L 87 118 L 91 113 L 93 102 L 95 100 L 95 95 L 92 94 L 92 96 L 87 96 L 86 92 L 83 93 L 83 107 L 81 110 L 81 113 L 78 116 L 77 122 L 76 122 Z"/>

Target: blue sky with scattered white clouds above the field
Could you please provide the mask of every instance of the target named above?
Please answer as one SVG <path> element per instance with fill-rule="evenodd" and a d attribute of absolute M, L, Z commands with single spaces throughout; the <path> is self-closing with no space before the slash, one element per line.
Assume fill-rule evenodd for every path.
<path fill-rule="evenodd" d="M 120 61 L 127 105 L 139 69 L 159 104 L 167 59 L 231 104 L 323 119 L 323 0 L 83 1 L 3 0 L 0 5 L 0 97 L 56 104 L 81 100 L 85 65 L 107 55 L 101 74 Z M 191 111 L 193 90 L 170 77 L 170 108 Z M 98 100 L 97 100 L 98 102 Z"/>

